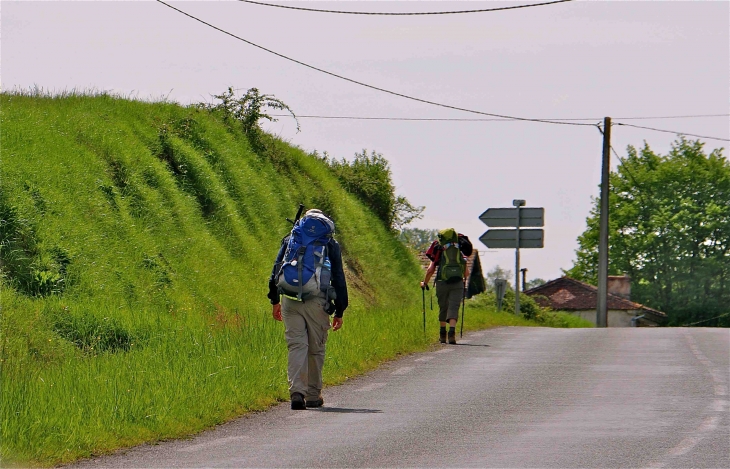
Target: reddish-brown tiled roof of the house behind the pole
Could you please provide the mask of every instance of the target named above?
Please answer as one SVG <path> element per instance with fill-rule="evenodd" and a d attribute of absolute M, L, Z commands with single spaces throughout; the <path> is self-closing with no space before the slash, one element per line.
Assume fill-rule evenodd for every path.
<path fill-rule="evenodd" d="M 527 290 L 525 294 L 538 296 L 535 299 L 541 306 L 549 306 L 556 310 L 590 310 L 596 309 L 598 304 L 598 288 L 570 277 L 551 280 Z M 660 318 L 667 316 L 661 311 L 610 293 L 607 296 L 607 308 L 613 310 L 641 310 Z"/>

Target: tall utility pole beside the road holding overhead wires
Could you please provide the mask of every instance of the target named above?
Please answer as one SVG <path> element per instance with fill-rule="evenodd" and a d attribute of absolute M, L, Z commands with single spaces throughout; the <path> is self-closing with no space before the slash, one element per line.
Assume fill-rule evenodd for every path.
<path fill-rule="evenodd" d="M 608 327 L 608 180 L 611 174 L 611 118 L 603 119 L 603 162 L 601 164 L 601 212 L 598 238 L 598 304 L 596 327 Z"/>

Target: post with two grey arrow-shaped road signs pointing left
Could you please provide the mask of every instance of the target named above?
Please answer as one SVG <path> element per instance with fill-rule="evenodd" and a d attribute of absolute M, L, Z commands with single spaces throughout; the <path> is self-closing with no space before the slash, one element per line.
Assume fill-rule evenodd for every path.
<path fill-rule="evenodd" d="M 525 201 L 512 201 L 515 208 L 489 208 L 479 216 L 485 225 L 491 227 L 512 227 L 510 230 L 487 230 L 479 241 L 488 248 L 515 249 L 515 314 L 520 313 L 520 248 L 542 248 L 544 231 L 540 229 L 520 229 L 523 226 L 543 226 L 545 209 L 525 207 Z M 506 282 L 505 282 L 506 283 Z M 496 286 L 496 285 L 495 285 Z M 499 287 L 498 292 L 499 292 Z M 499 301 L 501 306 L 501 301 Z"/>

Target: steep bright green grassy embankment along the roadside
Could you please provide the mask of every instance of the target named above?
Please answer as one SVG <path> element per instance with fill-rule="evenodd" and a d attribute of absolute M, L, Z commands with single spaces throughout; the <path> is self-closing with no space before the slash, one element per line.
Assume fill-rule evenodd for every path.
<path fill-rule="evenodd" d="M 434 342 L 412 254 L 306 152 L 258 155 L 235 126 L 170 103 L 0 105 L 3 465 L 188 435 L 286 399 L 266 279 L 299 202 L 337 223 L 351 291 L 326 383 Z M 483 303 L 467 329 L 536 324 Z"/>

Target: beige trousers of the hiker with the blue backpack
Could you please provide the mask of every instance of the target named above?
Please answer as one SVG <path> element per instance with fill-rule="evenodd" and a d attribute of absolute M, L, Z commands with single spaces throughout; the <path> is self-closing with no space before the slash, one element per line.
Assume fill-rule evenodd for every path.
<path fill-rule="evenodd" d="M 289 394 L 298 392 L 308 400 L 322 395 L 322 367 L 330 318 L 324 298 L 304 302 L 282 298 L 281 316 L 289 347 Z"/>

